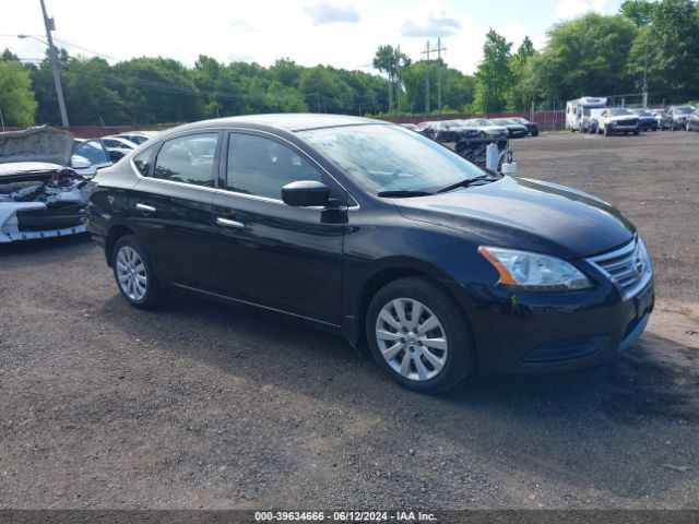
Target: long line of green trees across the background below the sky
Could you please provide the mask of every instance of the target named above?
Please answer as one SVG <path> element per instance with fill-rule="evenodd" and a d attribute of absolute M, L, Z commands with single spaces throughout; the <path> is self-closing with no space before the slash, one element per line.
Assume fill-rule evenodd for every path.
<path fill-rule="evenodd" d="M 627 0 L 615 15 L 585 14 L 550 27 L 542 50 L 519 48 L 490 29 L 475 74 L 442 60 L 412 61 L 380 46 L 381 74 L 279 59 L 270 67 L 200 56 L 193 67 L 168 58 L 108 63 L 59 49 L 71 124 L 177 123 L 254 112 L 347 115 L 522 111 L 582 95 L 638 93 L 699 99 L 699 1 Z M 437 79 L 440 79 L 439 84 Z M 438 102 L 441 107 L 438 107 Z M 50 62 L 0 53 L 0 111 L 7 126 L 60 123 Z"/>

